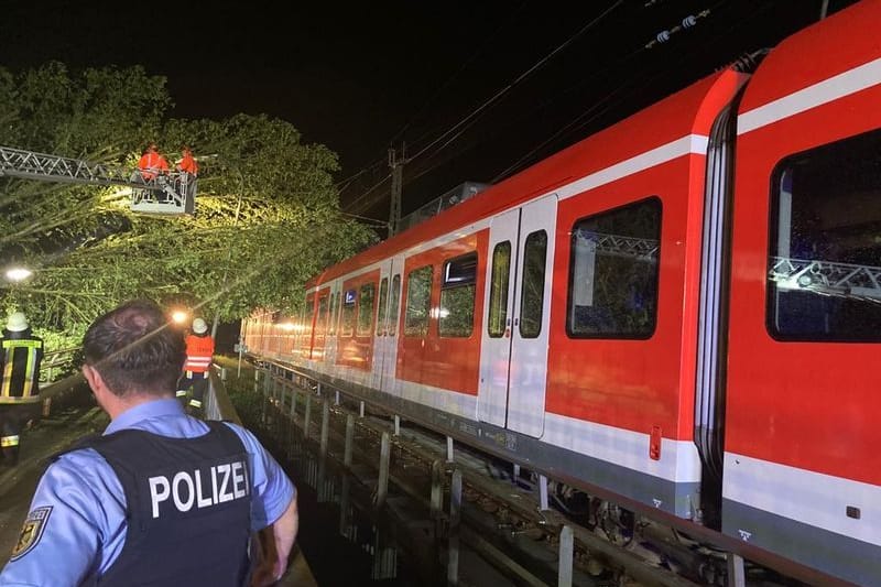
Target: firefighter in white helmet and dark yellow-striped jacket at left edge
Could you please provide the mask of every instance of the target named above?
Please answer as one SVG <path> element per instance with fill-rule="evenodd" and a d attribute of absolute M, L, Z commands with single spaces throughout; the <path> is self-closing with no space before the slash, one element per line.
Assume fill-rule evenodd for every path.
<path fill-rule="evenodd" d="M 43 340 L 31 334 L 21 312 L 9 316 L 3 329 L 3 381 L 0 389 L 0 445 L 6 465 L 19 461 L 19 443 L 25 424 L 40 415 L 40 363 Z"/>

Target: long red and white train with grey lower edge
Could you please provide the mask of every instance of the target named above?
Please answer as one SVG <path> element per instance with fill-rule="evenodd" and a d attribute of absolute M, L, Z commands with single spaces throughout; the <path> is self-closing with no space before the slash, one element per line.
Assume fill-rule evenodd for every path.
<path fill-rule="evenodd" d="M 308 286 L 251 352 L 588 493 L 881 585 L 881 1 Z"/>

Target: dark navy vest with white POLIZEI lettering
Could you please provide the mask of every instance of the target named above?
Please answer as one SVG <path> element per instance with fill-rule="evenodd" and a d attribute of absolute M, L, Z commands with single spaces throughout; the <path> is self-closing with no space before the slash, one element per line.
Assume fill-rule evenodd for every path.
<path fill-rule="evenodd" d="M 241 586 L 248 579 L 251 471 L 238 435 L 170 438 L 123 430 L 84 441 L 112 467 L 126 493 L 122 552 L 100 586 Z"/>

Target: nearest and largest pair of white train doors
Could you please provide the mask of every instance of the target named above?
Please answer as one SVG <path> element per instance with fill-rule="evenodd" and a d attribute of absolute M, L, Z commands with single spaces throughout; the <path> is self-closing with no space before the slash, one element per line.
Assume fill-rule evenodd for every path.
<path fill-rule="evenodd" d="M 490 224 L 478 418 L 536 438 L 544 432 L 556 209 L 552 195 Z"/>

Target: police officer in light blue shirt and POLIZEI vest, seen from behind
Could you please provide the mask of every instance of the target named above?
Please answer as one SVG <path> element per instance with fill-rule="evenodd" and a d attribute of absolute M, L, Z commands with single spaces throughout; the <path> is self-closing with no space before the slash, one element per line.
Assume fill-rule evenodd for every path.
<path fill-rule="evenodd" d="M 293 483 L 244 428 L 184 413 L 184 348 L 152 302 L 89 327 L 83 374 L 110 425 L 48 466 L 0 585 L 240 586 L 249 535 L 267 526 L 281 576 Z"/>

